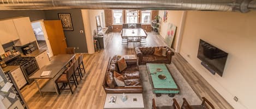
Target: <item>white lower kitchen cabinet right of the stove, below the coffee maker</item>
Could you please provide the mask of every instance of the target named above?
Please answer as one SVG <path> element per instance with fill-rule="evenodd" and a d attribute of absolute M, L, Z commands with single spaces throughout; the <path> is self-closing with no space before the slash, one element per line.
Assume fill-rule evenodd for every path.
<path fill-rule="evenodd" d="M 35 60 L 37 60 L 39 69 L 41 69 L 42 67 L 44 67 L 45 65 L 48 65 L 50 63 L 50 60 L 49 60 L 49 57 L 48 57 L 46 51 L 39 54 L 38 56 L 36 56 Z"/>

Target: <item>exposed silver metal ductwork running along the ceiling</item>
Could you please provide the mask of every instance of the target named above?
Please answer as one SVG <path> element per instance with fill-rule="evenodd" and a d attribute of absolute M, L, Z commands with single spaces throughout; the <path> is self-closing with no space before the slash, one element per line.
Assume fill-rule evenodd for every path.
<path fill-rule="evenodd" d="M 241 11 L 256 9 L 256 0 L 2 0 L 0 10 L 141 9 Z"/>

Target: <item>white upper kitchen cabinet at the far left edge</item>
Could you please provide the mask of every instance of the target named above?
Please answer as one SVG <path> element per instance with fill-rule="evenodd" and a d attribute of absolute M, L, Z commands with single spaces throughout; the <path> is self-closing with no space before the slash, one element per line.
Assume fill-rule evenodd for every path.
<path fill-rule="evenodd" d="M 19 35 L 17 33 L 13 20 L 10 19 L 0 21 L 0 37 L 1 44 L 5 44 L 19 39 Z"/>

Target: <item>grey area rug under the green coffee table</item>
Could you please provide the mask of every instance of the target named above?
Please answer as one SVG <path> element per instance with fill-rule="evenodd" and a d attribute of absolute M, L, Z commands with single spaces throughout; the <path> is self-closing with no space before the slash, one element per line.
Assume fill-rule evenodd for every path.
<path fill-rule="evenodd" d="M 180 86 L 180 94 L 175 94 L 174 97 L 169 97 L 168 94 L 162 94 L 160 97 L 156 97 L 156 94 L 152 92 L 152 86 L 150 84 L 150 80 L 148 79 L 148 73 L 146 65 L 140 65 L 140 76 L 143 84 L 143 99 L 145 109 L 152 108 L 152 99 L 154 98 L 157 106 L 171 106 L 172 99 L 175 98 L 178 101 L 178 104 L 182 105 L 182 98 L 186 98 L 190 105 L 199 105 L 201 104 L 201 100 L 195 94 L 193 89 L 188 85 L 188 82 L 183 78 L 183 76 L 178 72 L 177 68 L 174 64 L 167 64 L 167 67 L 170 69 L 170 72 L 173 78 L 176 80 L 178 86 Z"/>

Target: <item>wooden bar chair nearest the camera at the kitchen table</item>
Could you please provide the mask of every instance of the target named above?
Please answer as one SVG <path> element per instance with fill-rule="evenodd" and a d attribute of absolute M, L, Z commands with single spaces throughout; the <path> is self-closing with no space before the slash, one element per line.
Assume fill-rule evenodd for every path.
<path fill-rule="evenodd" d="M 59 78 L 56 80 L 56 85 L 59 90 L 70 89 L 71 93 L 73 94 L 72 86 L 75 84 L 75 87 L 78 87 L 76 86 L 77 80 L 75 79 L 73 68 L 74 68 L 74 64 L 70 65 L 70 67 L 68 67 L 65 70 L 65 72 L 61 76 L 59 76 Z M 70 81 L 73 81 L 73 82 L 70 82 Z M 63 85 L 59 88 L 58 83 L 63 83 Z M 70 83 L 72 83 L 72 85 L 70 85 Z M 68 84 L 69 88 L 66 88 L 67 86 L 66 84 Z"/>

